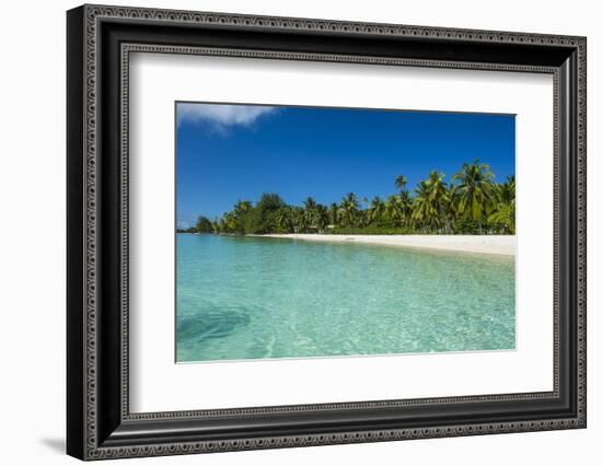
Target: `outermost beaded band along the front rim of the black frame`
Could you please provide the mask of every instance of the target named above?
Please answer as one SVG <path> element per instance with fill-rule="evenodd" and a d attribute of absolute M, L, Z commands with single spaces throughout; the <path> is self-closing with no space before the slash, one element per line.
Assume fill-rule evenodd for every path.
<path fill-rule="evenodd" d="M 84 430 L 83 439 L 83 458 L 101 459 L 111 457 L 125 456 L 154 456 L 154 455 L 173 455 L 210 451 L 239 451 L 251 448 L 266 447 L 288 447 L 288 446 L 308 446 L 319 444 L 337 444 L 337 443 L 355 443 L 355 442 L 375 442 L 385 440 L 402 440 L 415 438 L 438 438 L 438 436 L 454 436 L 454 435 L 475 435 L 484 433 L 505 433 L 519 431 L 535 431 L 549 429 L 566 429 L 584 427 L 586 419 L 586 350 L 584 350 L 584 313 L 586 313 L 586 201 L 584 201 L 584 161 L 586 161 L 586 39 L 576 36 L 553 36 L 543 34 L 525 34 L 525 33 L 505 33 L 505 32 L 488 32 L 488 31 L 468 31 L 468 30 L 447 30 L 441 27 L 422 27 L 422 26 L 403 26 L 403 25 L 386 25 L 386 24 L 368 24 L 355 22 L 339 22 L 325 20 L 301 20 L 287 18 L 269 18 L 269 16 L 250 16 L 238 14 L 221 14 L 221 13 L 197 13 L 173 10 L 152 10 L 138 8 L 120 8 L 105 5 L 84 5 L 83 11 L 83 39 L 84 56 L 82 57 L 83 73 L 83 107 L 85 115 L 84 126 L 84 142 L 85 150 L 85 166 L 84 166 L 84 190 L 85 196 L 85 212 L 84 212 L 84 257 L 85 257 L 85 316 L 82 316 L 84 323 L 84 343 L 80 348 L 80 354 L 84 356 L 84 368 L 82 372 L 82 382 L 85 387 L 83 396 L 84 419 L 82 419 L 82 428 Z M 308 434 L 298 436 L 281 436 L 267 439 L 241 439 L 232 441 L 222 441 L 217 443 L 211 442 L 178 442 L 175 444 L 157 444 L 152 446 L 124 446 L 124 447 L 102 447 L 97 446 L 97 426 L 96 426 L 96 409 L 97 409 L 97 361 L 96 361 L 96 259 L 97 259 L 97 238 L 96 238 L 96 212 L 97 212 L 97 193 L 96 193 L 96 150 L 97 150 L 97 128 L 96 128 L 96 86 L 97 86 L 97 70 L 96 70 L 96 54 L 97 54 L 97 30 L 96 20 L 100 18 L 107 19 L 129 19 L 129 20 L 147 20 L 163 23 L 194 23 L 194 24 L 210 24 L 210 25 L 229 25 L 229 26 L 247 26 L 253 28 L 280 28 L 285 31 L 317 31 L 317 32 L 346 32 L 358 33 L 359 35 L 393 35 L 393 36 L 419 36 L 421 38 L 436 36 L 450 38 L 454 40 L 478 40 L 487 43 L 514 43 L 514 44 L 533 44 L 533 45 L 557 45 L 574 47 L 578 50 L 578 107 L 579 115 L 577 117 L 578 130 L 578 185 L 579 199 L 577 222 L 578 229 L 578 251 L 579 251 L 579 269 L 578 269 L 578 310 L 576 316 L 578 322 L 578 335 L 582 339 L 579 340 L 578 356 L 578 408 L 579 415 L 576 418 L 549 419 L 547 421 L 524 421 L 513 422 L 494 422 L 491 424 L 468 424 L 468 426 L 441 426 L 439 428 L 421 428 L 413 429 L 412 431 L 395 430 L 395 431 L 361 431 L 351 433 L 335 433 L 335 434 Z M 441 35 L 439 35 L 441 34 Z M 71 121 L 71 119 L 69 119 Z M 72 136 L 69 136 L 72 138 Z M 72 202 L 70 200 L 70 202 Z M 71 226 L 70 226 L 71 228 Z M 71 246 L 70 246 L 71 247 Z"/>

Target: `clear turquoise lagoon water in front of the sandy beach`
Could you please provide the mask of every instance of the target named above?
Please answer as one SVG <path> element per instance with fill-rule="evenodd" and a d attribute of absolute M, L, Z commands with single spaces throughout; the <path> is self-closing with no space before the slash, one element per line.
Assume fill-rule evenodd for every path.
<path fill-rule="evenodd" d="M 514 348 L 514 260 L 177 235 L 176 359 Z"/>

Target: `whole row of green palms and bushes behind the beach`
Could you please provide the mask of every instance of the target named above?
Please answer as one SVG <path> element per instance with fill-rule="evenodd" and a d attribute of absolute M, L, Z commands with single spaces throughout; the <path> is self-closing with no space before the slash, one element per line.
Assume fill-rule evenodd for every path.
<path fill-rule="evenodd" d="M 494 173 L 476 160 L 464 164 L 448 185 L 441 172 L 430 172 L 409 193 L 400 175 L 397 193 L 371 201 L 354 193 L 329 206 L 308 197 L 287 205 L 266 193 L 258 202 L 240 200 L 213 222 L 200 217 L 190 233 L 266 234 L 514 234 L 514 177 L 495 183 Z M 366 205 L 366 207 L 364 207 Z"/>

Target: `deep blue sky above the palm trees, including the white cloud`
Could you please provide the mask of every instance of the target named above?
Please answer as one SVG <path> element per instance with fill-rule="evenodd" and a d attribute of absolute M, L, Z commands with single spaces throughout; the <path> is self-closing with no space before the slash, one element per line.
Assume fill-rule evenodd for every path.
<path fill-rule="evenodd" d="M 176 129 L 178 226 L 263 193 L 385 198 L 397 175 L 410 190 L 431 170 L 449 183 L 475 159 L 497 182 L 514 174 L 512 115 L 177 103 Z"/>

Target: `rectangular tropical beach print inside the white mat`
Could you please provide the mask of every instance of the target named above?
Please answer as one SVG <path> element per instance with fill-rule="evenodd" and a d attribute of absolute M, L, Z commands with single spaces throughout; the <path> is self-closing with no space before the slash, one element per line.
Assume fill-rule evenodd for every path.
<path fill-rule="evenodd" d="M 176 361 L 514 349 L 514 116 L 176 103 Z"/>

